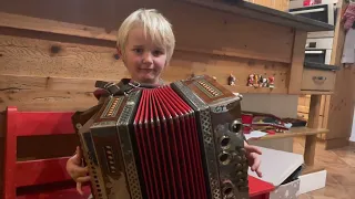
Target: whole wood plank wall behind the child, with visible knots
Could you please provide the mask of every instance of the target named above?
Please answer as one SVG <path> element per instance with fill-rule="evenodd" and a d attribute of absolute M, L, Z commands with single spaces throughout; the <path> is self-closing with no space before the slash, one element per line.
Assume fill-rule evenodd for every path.
<path fill-rule="evenodd" d="M 7 1 L 0 7 L 0 163 L 7 106 L 84 109 L 95 104 L 95 80 L 119 81 L 129 75 L 115 55 L 115 32 L 129 13 L 143 7 L 162 11 L 174 25 L 176 51 L 163 74 L 165 81 L 195 73 L 214 75 L 226 84 L 233 73 L 237 85 L 230 88 L 235 92 L 287 93 L 294 38 L 287 28 L 175 0 Z M 275 75 L 275 90 L 244 86 L 251 73 Z M 74 136 L 21 138 L 18 157 L 71 155 L 77 144 Z M 1 189 L 2 164 L 0 170 Z"/>

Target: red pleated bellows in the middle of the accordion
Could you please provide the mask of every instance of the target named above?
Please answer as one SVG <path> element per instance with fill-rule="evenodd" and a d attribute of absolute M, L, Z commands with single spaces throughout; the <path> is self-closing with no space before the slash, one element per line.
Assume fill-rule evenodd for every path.
<path fill-rule="evenodd" d="M 133 127 L 146 198 L 207 198 L 197 125 L 187 103 L 170 86 L 143 90 Z"/>

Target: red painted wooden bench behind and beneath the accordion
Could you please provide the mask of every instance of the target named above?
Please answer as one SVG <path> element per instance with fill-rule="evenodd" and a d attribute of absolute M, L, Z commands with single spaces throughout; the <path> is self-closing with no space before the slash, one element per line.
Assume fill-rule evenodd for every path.
<path fill-rule="evenodd" d="M 19 136 L 73 134 L 72 114 L 71 112 L 18 112 L 14 106 L 7 108 L 4 199 L 89 197 L 89 186 L 84 187 L 85 195 L 80 196 L 74 181 L 67 174 L 65 164 L 69 157 L 17 160 Z M 248 180 L 252 199 L 268 199 L 268 192 L 273 190 L 272 185 L 253 177 Z"/>

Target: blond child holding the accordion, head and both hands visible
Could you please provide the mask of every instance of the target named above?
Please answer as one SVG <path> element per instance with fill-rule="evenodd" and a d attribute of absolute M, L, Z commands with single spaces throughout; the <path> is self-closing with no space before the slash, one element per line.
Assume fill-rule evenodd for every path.
<path fill-rule="evenodd" d="M 170 22 L 156 10 L 140 9 L 131 13 L 118 32 L 118 53 L 131 74 L 131 81 L 162 84 L 160 75 L 169 65 L 175 48 L 175 38 Z M 261 151 L 245 143 L 251 169 L 262 176 Z M 82 154 L 77 153 L 67 163 L 67 171 L 77 181 L 82 195 L 81 184 L 89 181 L 88 168 L 81 166 Z"/>

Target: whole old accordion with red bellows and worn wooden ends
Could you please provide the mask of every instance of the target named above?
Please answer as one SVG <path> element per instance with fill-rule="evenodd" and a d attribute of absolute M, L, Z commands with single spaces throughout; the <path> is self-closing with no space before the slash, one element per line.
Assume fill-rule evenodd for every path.
<path fill-rule="evenodd" d="M 241 100 L 202 75 L 77 112 L 93 198 L 248 198 Z"/>

